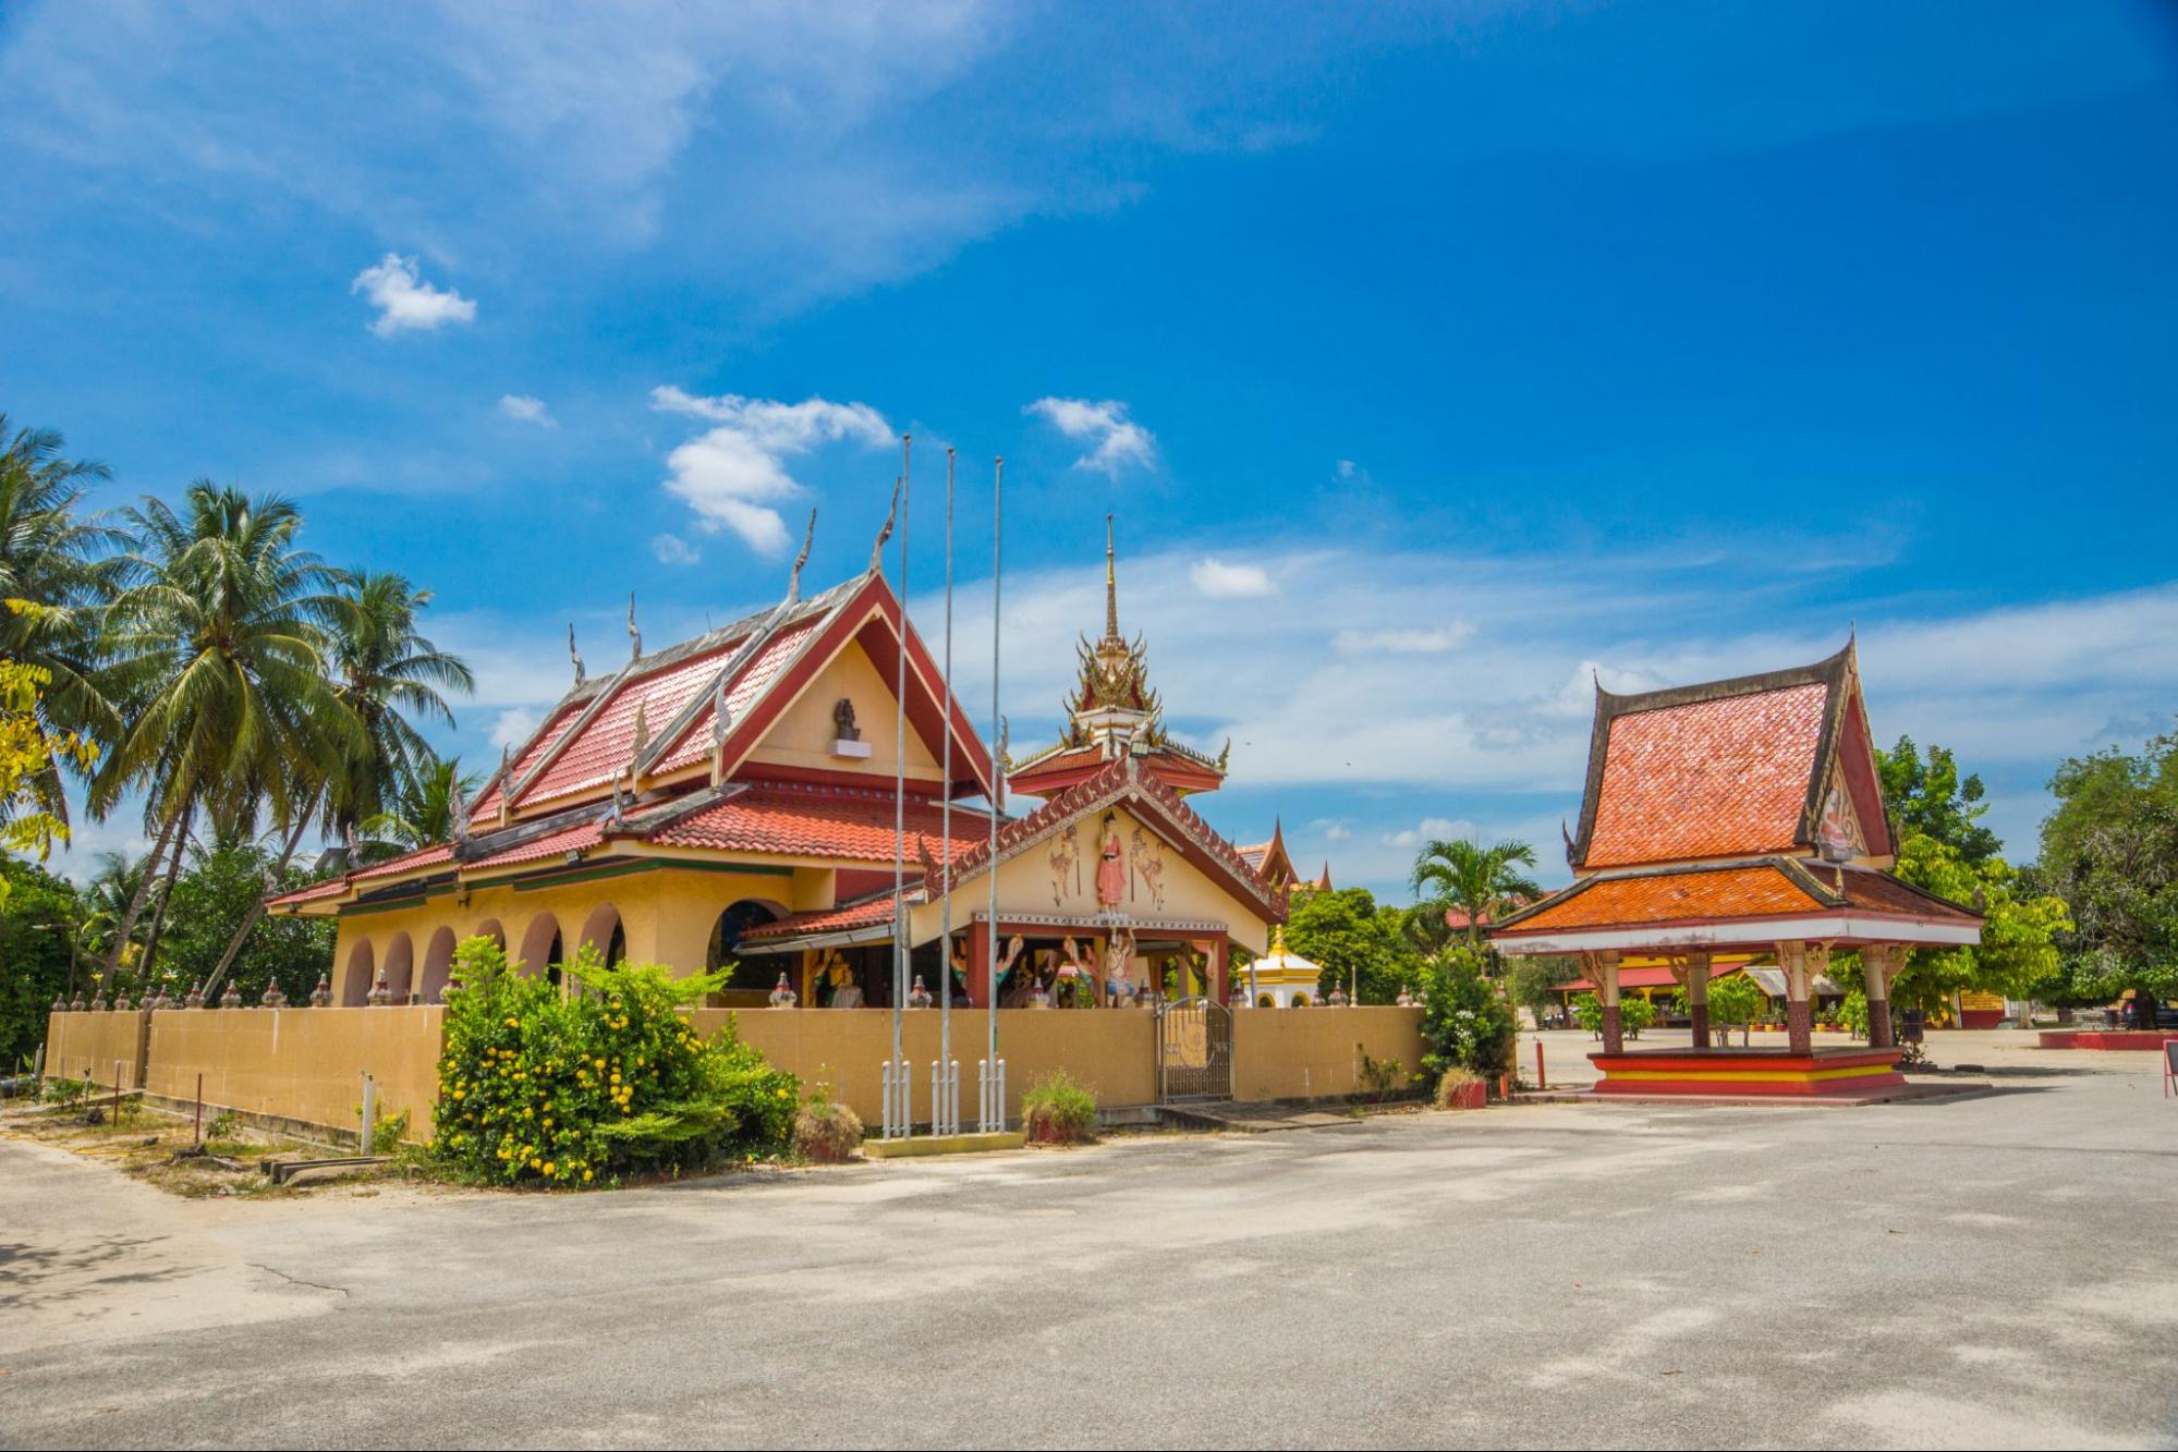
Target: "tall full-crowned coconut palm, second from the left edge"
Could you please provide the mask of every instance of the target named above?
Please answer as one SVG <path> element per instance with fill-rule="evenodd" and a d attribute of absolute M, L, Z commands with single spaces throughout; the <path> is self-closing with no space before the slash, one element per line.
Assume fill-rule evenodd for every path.
<path fill-rule="evenodd" d="M 172 882 L 198 812 L 235 823 L 270 808 L 292 823 L 296 792 L 340 775 L 362 731 L 325 679 L 340 573 L 296 544 L 292 503 L 200 479 L 179 509 L 146 499 L 126 518 L 137 549 L 111 642 L 133 710 L 91 782 L 91 810 L 142 788 L 159 825 L 152 864 Z M 148 886 L 150 875 L 122 912 L 115 951 Z"/>

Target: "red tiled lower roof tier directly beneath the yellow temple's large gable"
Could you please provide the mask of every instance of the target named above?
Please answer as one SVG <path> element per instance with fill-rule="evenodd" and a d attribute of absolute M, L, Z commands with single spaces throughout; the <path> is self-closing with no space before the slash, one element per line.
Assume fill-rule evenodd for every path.
<path fill-rule="evenodd" d="M 921 860 L 943 862 L 943 812 L 937 801 L 908 797 L 908 873 L 921 879 Z M 952 856 L 989 840 L 982 812 L 954 808 Z M 795 786 L 767 782 L 714 808 L 669 823 L 651 834 L 660 847 L 767 851 L 795 858 L 893 860 L 893 792 L 876 788 Z"/>

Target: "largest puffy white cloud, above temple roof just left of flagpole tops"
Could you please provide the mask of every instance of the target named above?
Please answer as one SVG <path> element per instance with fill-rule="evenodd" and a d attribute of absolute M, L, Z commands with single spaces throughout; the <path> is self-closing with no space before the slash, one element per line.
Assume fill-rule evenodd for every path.
<path fill-rule="evenodd" d="M 788 544 L 786 520 L 773 505 L 804 492 L 786 472 L 788 459 L 834 442 L 865 448 L 895 442 L 891 424 L 867 403 L 699 398 L 666 385 L 651 390 L 651 407 L 714 424 L 666 455 L 673 470 L 666 490 L 695 509 L 697 527 L 732 529 L 764 555 Z"/>

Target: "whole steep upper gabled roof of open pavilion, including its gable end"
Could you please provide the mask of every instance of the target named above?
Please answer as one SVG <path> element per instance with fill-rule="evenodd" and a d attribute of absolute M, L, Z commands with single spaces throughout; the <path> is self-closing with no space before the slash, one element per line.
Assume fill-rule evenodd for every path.
<path fill-rule="evenodd" d="M 1703 686 L 1614 694 L 1596 686 L 1573 869 L 1806 853 L 1843 795 L 1864 856 L 1888 856 L 1853 647 Z"/>

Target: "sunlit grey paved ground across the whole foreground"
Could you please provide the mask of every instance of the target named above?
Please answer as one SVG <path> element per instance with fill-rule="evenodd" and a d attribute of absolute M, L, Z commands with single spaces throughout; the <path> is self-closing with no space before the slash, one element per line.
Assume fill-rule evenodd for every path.
<path fill-rule="evenodd" d="M 0 1141 L 0 1439 L 2174 1445 L 2178 1102 L 2089 1058 L 579 1197 Z"/>

